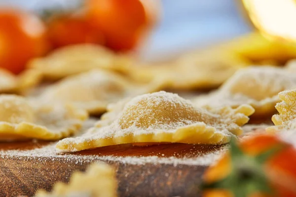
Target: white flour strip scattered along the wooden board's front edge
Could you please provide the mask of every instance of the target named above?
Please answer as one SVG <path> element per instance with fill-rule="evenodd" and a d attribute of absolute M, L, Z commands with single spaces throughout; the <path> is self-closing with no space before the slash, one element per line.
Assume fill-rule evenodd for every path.
<path fill-rule="evenodd" d="M 43 163 L 47 160 L 63 159 L 66 163 L 75 161 L 76 164 L 89 163 L 93 161 L 106 161 L 106 162 L 118 162 L 121 164 L 173 164 L 174 166 L 178 164 L 185 165 L 209 165 L 217 161 L 221 155 L 228 149 L 228 145 L 222 146 L 221 149 L 212 151 L 206 154 L 200 154 L 194 158 L 176 158 L 176 157 L 124 157 L 124 156 L 83 156 L 74 154 L 58 154 L 55 150 L 56 143 L 51 143 L 45 145 L 41 148 L 33 150 L 0 150 L 0 157 L 5 158 L 18 158 L 20 160 L 38 160 L 38 162 Z"/>

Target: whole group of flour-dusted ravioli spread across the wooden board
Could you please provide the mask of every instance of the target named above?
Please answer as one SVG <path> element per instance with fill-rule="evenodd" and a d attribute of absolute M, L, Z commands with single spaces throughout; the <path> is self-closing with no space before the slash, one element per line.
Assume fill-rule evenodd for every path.
<path fill-rule="evenodd" d="M 269 132 L 292 130 L 294 67 L 293 61 L 252 66 L 227 50 L 143 66 L 102 46 L 68 46 L 32 60 L 19 76 L 0 70 L 0 140 L 60 140 L 58 152 L 75 152 L 117 144 L 219 145 L 242 136 L 250 119 L 272 120 Z M 84 129 L 92 117 L 98 121 Z"/>

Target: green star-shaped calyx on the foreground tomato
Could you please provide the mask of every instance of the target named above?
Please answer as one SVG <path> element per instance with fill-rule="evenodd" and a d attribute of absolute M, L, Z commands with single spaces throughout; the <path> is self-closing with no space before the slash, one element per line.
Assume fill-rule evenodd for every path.
<path fill-rule="evenodd" d="M 212 184 L 202 185 L 203 189 L 226 189 L 234 197 L 248 197 L 256 192 L 272 194 L 268 180 L 263 170 L 263 164 L 272 155 L 280 151 L 283 146 L 276 146 L 256 157 L 244 154 L 238 146 L 237 140 L 230 140 L 230 156 L 232 170 L 230 174 Z"/>

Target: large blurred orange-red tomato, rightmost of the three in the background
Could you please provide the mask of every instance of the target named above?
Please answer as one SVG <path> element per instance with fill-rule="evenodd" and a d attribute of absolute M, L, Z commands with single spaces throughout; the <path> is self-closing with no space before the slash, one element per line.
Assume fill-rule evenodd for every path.
<path fill-rule="evenodd" d="M 139 44 L 157 20 L 158 7 L 156 0 L 86 0 L 88 19 L 103 31 L 106 45 L 115 51 Z"/>

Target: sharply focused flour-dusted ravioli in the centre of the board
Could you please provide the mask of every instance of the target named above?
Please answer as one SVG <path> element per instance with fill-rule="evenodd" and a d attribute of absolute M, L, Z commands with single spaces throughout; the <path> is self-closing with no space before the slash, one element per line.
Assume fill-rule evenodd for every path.
<path fill-rule="evenodd" d="M 181 142 L 223 144 L 242 133 L 254 112 L 249 105 L 236 109 L 194 108 L 192 103 L 176 94 L 156 92 L 128 101 L 110 125 L 89 129 L 80 137 L 57 143 L 60 152 L 74 152 L 124 143 Z"/>

